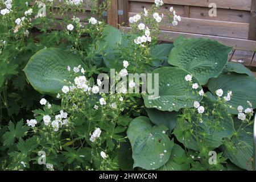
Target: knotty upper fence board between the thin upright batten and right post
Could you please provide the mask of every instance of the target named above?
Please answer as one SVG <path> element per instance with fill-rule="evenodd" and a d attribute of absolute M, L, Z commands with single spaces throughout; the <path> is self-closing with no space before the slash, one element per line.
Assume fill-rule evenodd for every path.
<path fill-rule="evenodd" d="M 217 9 L 217 16 L 210 17 L 208 7 L 190 7 L 190 18 L 250 23 L 250 17 L 249 11 L 227 9 Z"/>

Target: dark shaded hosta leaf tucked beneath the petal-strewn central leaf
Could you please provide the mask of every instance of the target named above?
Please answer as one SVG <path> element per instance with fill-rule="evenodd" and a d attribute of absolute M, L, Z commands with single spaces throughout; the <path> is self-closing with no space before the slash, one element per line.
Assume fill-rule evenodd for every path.
<path fill-rule="evenodd" d="M 164 125 L 168 127 L 168 134 L 171 134 L 177 122 L 177 112 L 160 111 L 158 109 L 146 109 L 148 117 L 156 126 Z"/>

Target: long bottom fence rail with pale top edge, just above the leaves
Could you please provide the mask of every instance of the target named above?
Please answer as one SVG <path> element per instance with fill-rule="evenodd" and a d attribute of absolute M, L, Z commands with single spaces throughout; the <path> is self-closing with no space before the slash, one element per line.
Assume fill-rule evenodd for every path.
<path fill-rule="evenodd" d="M 127 32 L 130 27 L 120 27 L 121 30 Z M 226 46 L 233 47 L 235 49 L 246 50 L 246 51 L 255 51 L 256 50 L 256 41 L 246 40 L 246 39 L 237 39 L 237 38 L 226 38 L 222 36 L 212 36 L 212 35 L 203 35 L 203 34 L 191 34 L 185 32 L 175 32 L 175 31 L 165 31 L 162 30 L 159 35 L 159 40 L 173 42 L 179 36 L 184 38 L 207 38 L 212 40 L 217 40 Z"/>

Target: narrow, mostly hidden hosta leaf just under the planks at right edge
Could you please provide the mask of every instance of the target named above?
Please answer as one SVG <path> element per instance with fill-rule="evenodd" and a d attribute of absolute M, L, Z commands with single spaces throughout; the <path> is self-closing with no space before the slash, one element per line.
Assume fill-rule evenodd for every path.
<path fill-rule="evenodd" d="M 225 68 L 223 69 L 222 73 L 228 73 L 228 72 L 236 72 L 240 74 L 246 74 L 248 76 L 253 76 L 253 73 L 251 73 L 250 69 L 246 68 L 244 65 L 240 63 L 228 63 L 226 64 Z"/>

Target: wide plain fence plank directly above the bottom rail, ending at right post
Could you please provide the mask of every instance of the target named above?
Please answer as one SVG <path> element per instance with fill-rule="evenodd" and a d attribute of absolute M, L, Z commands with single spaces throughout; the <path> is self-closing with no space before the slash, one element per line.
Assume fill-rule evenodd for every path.
<path fill-rule="evenodd" d="M 129 13 L 134 16 L 135 13 Z M 162 30 L 172 30 L 194 34 L 205 34 L 214 36 L 226 36 L 230 38 L 247 39 L 249 23 L 222 22 L 216 20 L 205 20 L 195 18 L 181 18 L 177 26 L 172 26 L 167 16 L 164 16 L 161 24 Z"/>

